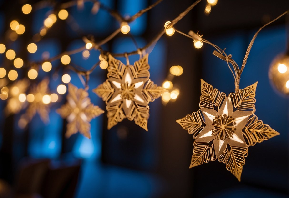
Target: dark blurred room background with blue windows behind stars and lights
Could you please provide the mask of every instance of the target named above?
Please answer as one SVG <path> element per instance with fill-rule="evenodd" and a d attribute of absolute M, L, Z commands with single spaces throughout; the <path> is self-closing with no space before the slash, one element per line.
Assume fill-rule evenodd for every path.
<path fill-rule="evenodd" d="M 37 43 L 38 51 L 27 55 L 23 49 L 39 31 L 45 14 L 51 8 L 23 16 L 21 6 L 26 2 L 33 5 L 36 1 L 0 1 L 0 33 L 4 38 L 10 21 L 21 20 L 26 32 L 10 46 L 16 54 L 29 60 L 41 59 L 44 51 L 49 51 L 53 57 L 61 51 L 83 46 L 81 38 L 88 34 L 96 41 L 101 40 L 119 27 L 114 18 L 102 10 L 92 15 L 91 3 L 85 3 L 84 10 L 77 10 L 74 6 L 67 9 L 72 17 L 66 21 L 58 20 L 47 36 Z M 101 2 L 131 16 L 154 1 Z M 138 45 L 144 46 L 166 21 L 173 20 L 193 2 L 164 0 L 130 24 L 131 34 Z M 200 31 L 205 39 L 227 48 L 226 53 L 231 54 L 239 66 L 257 29 L 289 8 L 288 0 L 219 0 L 207 16 L 204 14 L 205 4 L 205 1 L 199 3 L 175 28 L 184 33 Z M 72 28 L 74 23 L 79 25 L 76 30 Z M 149 48 L 152 50 L 149 55 L 152 81 L 161 85 L 173 65 L 182 66 L 184 73 L 173 81 L 180 90 L 175 102 L 162 105 L 161 99 L 157 99 L 149 104 L 148 132 L 128 120 L 106 130 L 107 118 L 103 114 L 91 122 L 91 140 L 79 134 L 64 139 L 66 121 L 55 113 L 55 109 L 65 102 L 65 98 L 61 104 L 51 107 L 49 125 L 42 124 L 36 116 L 26 130 L 21 130 L 17 122 L 23 112 L 10 117 L 2 114 L 0 177 L 14 184 L 17 167 L 27 156 L 50 158 L 56 162 L 78 158 L 82 163 L 75 197 L 287 197 L 288 99 L 274 91 L 268 80 L 270 63 L 277 54 L 286 51 L 287 40 L 285 16 L 261 31 L 241 76 L 240 88 L 258 81 L 255 114 L 280 132 L 277 137 L 249 147 L 241 182 L 218 161 L 188 169 L 194 139 L 175 120 L 199 109 L 201 78 L 226 94 L 234 91 L 234 79 L 227 64 L 212 55 L 214 48 L 204 44 L 201 49 L 195 49 L 192 40 L 177 32 L 170 37 L 162 36 L 154 48 Z M 136 49 L 131 38 L 122 34 L 105 44 L 104 48 L 116 53 Z M 89 69 L 98 61 L 98 56 L 99 52 L 91 51 L 87 60 L 81 53 L 72 55 L 71 59 Z M 137 59 L 138 55 L 131 56 L 130 62 Z M 0 60 L 4 61 L 3 54 Z M 56 68 L 60 61 L 52 64 Z M 82 87 L 77 75 L 70 74 L 71 82 Z M 37 79 L 44 75 L 40 73 Z M 52 80 L 52 74 L 50 77 L 50 89 L 55 91 L 60 79 Z M 90 79 L 90 98 L 95 105 L 105 109 L 105 103 L 91 89 L 105 81 L 106 72 L 97 68 Z M 1 101 L 1 108 L 4 107 L 5 102 Z"/>

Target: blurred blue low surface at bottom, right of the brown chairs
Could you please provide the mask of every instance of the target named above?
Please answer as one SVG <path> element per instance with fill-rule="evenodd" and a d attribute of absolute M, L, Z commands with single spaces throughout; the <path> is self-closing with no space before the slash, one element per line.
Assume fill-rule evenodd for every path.
<path fill-rule="evenodd" d="M 83 163 L 75 197 L 159 197 L 163 183 L 155 175 L 113 166 Z M 94 185 L 91 185 L 91 184 Z"/>

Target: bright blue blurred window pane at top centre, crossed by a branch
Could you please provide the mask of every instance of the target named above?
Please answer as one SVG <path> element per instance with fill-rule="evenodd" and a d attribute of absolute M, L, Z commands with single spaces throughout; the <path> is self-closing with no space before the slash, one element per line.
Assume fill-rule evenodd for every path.
<path fill-rule="evenodd" d="M 120 0 L 118 8 L 123 16 L 133 16 L 138 11 L 147 7 L 148 1 Z M 141 35 L 147 28 L 147 13 L 137 18 L 129 24 L 130 32 L 133 35 Z"/>

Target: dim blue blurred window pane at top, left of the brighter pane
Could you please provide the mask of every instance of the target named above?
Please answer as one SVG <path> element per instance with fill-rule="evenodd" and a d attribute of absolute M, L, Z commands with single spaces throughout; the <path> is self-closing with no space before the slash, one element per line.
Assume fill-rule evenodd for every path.
<path fill-rule="evenodd" d="M 105 0 L 103 3 L 106 6 L 113 8 L 113 0 Z M 73 21 L 79 25 L 79 31 L 95 33 L 97 36 L 107 36 L 108 33 L 114 31 L 114 29 L 112 29 L 113 27 L 110 25 L 114 19 L 103 9 L 99 9 L 97 14 L 92 14 L 92 7 L 92 2 L 86 2 L 82 10 L 78 9 L 77 6 L 73 6 L 68 11 L 71 13 Z"/>

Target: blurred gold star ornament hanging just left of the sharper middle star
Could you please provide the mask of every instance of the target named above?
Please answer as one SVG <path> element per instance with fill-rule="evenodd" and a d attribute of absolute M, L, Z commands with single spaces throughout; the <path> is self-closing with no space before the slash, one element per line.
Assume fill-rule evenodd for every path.
<path fill-rule="evenodd" d="M 85 137 L 90 138 L 90 121 L 104 111 L 90 102 L 88 92 L 84 89 L 78 89 L 72 84 L 68 84 L 68 95 L 66 104 L 57 109 L 57 113 L 62 118 L 66 118 L 68 124 L 66 137 L 77 133 L 78 131 Z"/>

